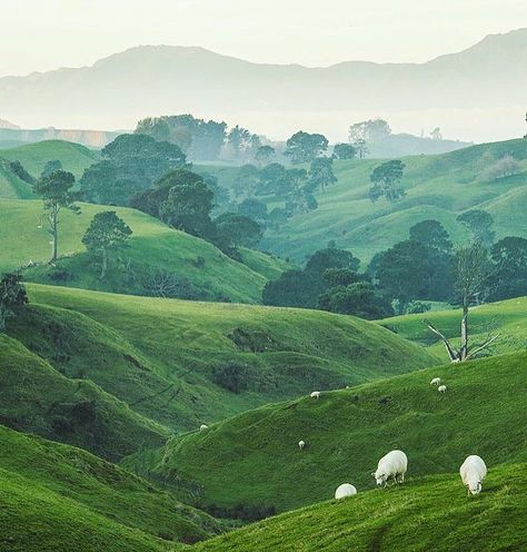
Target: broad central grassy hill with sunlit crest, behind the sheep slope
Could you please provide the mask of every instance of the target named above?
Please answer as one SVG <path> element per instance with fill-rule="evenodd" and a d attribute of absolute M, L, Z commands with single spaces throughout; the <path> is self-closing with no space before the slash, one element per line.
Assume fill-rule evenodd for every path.
<path fill-rule="evenodd" d="M 434 364 L 374 323 L 315 310 L 119 296 L 30 285 L 9 334 L 67 377 L 190 430 L 269 401 Z M 215 369 L 242 367 L 239 393 Z M 68 379 L 67 379 L 68 382 Z M 225 384 L 223 384 L 225 385 Z"/>

